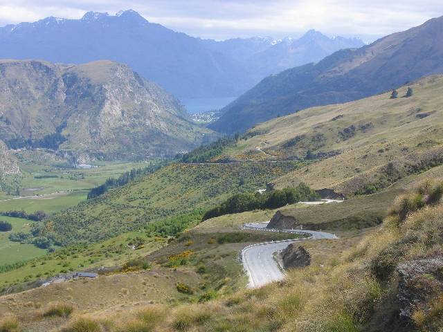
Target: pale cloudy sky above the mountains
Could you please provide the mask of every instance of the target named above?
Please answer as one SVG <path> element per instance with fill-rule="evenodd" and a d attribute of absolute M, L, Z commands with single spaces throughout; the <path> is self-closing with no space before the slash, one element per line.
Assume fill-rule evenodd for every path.
<path fill-rule="evenodd" d="M 369 41 L 443 15 L 442 0 L 0 0 L 0 26 L 129 8 L 148 21 L 213 39 L 297 37 L 314 28 Z"/>

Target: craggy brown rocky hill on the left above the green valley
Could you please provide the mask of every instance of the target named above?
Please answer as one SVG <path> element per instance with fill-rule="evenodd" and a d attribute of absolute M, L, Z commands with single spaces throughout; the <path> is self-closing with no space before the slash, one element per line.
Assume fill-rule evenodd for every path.
<path fill-rule="evenodd" d="M 180 102 L 123 64 L 0 61 L 0 139 L 100 158 L 191 149 L 209 133 Z"/>

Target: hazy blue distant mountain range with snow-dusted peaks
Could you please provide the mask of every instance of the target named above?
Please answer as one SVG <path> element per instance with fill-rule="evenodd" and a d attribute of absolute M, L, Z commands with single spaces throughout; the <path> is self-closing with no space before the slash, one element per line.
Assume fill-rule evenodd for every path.
<path fill-rule="evenodd" d="M 150 23 L 134 10 L 87 12 L 82 19 L 48 17 L 0 28 L 0 58 L 72 64 L 110 59 L 179 98 L 232 97 L 271 73 L 363 45 L 359 39 L 316 40 L 300 48 L 269 37 L 215 42 Z"/>

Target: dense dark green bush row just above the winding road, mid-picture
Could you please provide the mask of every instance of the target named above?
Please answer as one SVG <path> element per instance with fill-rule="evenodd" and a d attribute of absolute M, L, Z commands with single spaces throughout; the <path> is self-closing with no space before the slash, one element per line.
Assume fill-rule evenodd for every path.
<path fill-rule="evenodd" d="M 282 190 L 273 190 L 272 192 L 264 192 L 260 194 L 236 194 L 231 196 L 221 205 L 208 210 L 203 220 L 214 218 L 216 216 L 222 216 L 224 214 L 233 214 L 239 212 L 275 209 L 281 208 L 287 204 L 295 204 L 300 201 L 316 201 L 320 198 L 320 195 L 312 190 L 305 183 L 300 183 L 295 188 L 284 188 Z"/>

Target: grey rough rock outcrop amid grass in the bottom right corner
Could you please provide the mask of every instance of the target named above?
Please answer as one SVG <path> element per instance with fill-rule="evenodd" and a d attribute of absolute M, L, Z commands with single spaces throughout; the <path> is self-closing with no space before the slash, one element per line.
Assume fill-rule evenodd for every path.
<path fill-rule="evenodd" d="M 397 299 L 401 317 L 412 319 L 416 310 L 429 311 L 429 303 L 443 293 L 443 254 L 406 261 L 397 267 Z"/>

